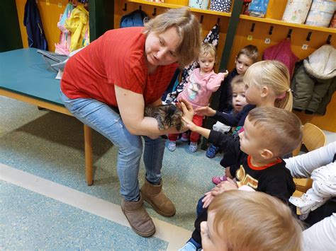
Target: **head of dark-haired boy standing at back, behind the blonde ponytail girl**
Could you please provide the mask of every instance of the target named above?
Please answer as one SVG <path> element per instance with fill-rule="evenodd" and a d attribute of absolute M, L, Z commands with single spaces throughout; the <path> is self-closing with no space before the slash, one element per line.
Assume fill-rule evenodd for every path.
<path fill-rule="evenodd" d="M 247 69 L 257 62 L 259 52 L 254 45 L 247 45 L 240 49 L 235 57 L 235 69 L 239 75 L 244 75 Z"/>

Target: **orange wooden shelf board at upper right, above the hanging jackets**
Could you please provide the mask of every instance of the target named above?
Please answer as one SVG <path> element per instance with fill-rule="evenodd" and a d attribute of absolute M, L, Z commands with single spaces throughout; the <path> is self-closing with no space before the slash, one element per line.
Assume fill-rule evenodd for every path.
<path fill-rule="evenodd" d="M 275 25 L 284 25 L 284 26 L 296 27 L 296 28 L 301 28 L 301 29 L 306 29 L 306 30 L 318 30 L 318 31 L 323 31 L 325 33 L 336 33 L 336 29 L 333 29 L 333 28 L 318 27 L 318 26 L 312 26 L 312 25 L 306 25 L 306 24 L 300 24 L 300 23 L 289 23 L 289 22 L 284 22 L 284 21 L 271 19 L 271 18 L 257 18 L 254 16 L 240 15 L 240 19 L 262 22 L 262 23 L 272 23 Z"/>

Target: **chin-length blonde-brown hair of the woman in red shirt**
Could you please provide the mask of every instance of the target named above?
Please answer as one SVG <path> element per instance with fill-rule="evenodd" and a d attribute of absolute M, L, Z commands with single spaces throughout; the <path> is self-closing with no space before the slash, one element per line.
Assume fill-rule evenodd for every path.
<path fill-rule="evenodd" d="M 181 67 L 191 64 L 198 57 L 201 47 L 201 26 L 189 8 L 171 8 L 145 23 L 143 33 L 164 33 L 169 28 L 177 28 L 181 43 L 176 54 Z"/>

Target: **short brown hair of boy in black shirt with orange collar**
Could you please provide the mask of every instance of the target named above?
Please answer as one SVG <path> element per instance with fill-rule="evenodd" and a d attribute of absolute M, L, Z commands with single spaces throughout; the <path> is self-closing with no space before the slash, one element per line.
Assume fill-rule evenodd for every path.
<path fill-rule="evenodd" d="M 276 107 L 257 107 L 249 112 L 247 119 L 262 130 L 267 139 L 265 143 L 276 157 L 291 153 L 301 142 L 301 120 L 293 112 Z"/>

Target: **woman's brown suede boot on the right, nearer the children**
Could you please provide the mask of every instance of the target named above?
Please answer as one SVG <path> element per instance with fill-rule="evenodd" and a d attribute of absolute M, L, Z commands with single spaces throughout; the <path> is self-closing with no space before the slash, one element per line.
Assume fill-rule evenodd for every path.
<path fill-rule="evenodd" d="M 140 189 L 142 198 L 148 202 L 158 214 L 166 217 L 174 216 L 176 209 L 171 200 L 162 192 L 162 180 L 159 185 L 152 185 L 145 179 Z"/>

